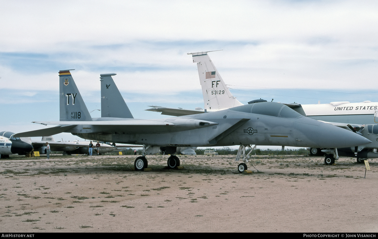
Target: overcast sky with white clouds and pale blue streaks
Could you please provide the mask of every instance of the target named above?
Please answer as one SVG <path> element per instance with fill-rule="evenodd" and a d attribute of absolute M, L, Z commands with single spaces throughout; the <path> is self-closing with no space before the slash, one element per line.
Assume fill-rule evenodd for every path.
<path fill-rule="evenodd" d="M 242 103 L 378 101 L 377 1 L 0 1 L 0 18 L 1 130 L 59 120 L 65 69 L 89 111 L 101 73 L 135 118 L 203 107 L 196 51 L 223 50 L 209 56 Z"/>

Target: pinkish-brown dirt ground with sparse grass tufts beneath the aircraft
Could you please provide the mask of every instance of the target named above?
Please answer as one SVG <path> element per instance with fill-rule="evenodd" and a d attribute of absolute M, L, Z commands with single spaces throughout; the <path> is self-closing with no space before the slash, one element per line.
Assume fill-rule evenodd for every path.
<path fill-rule="evenodd" d="M 378 161 L 180 156 L 136 172 L 134 156 L 0 160 L 3 232 L 377 232 Z"/>

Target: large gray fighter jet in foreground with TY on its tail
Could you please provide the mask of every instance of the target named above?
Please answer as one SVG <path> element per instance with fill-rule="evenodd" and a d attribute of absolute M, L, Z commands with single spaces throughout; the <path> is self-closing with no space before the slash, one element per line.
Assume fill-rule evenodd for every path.
<path fill-rule="evenodd" d="M 37 137 L 68 132 L 85 139 L 143 144 L 143 156 L 134 162 L 139 171 L 147 167 L 145 152 L 150 146 L 164 146 L 167 154 L 173 154 L 177 147 L 257 144 L 338 148 L 371 143 L 361 135 L 308 118 L 278 102 L 259 102 L 165 119 L 92 119 L 70 70 L 59 71 L 59 88 L 60 121 L 34 122 L 58 126 L 14 136 Z M 180 160 L 170 155 L 167 164 L 175 168 Z M 244 161 L 239 164 L 238 171 L 245 169 Z"/>

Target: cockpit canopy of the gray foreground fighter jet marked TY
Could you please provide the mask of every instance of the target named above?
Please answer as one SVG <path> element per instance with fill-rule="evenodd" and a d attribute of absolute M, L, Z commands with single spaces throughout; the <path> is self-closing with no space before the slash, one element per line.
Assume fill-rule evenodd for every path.
<path fill-rule="evenodd" d="M 297 118 L 299 116 L 302 116 L 300 113 L 296 112 L 290 107 L 278 102 L 259 102 L 252 104 L 251 107 L 248 107 L 248 105 L 238 106 L 235 107 L 234 110 L 246 113 L 270 115 L 283 118 Z"/>

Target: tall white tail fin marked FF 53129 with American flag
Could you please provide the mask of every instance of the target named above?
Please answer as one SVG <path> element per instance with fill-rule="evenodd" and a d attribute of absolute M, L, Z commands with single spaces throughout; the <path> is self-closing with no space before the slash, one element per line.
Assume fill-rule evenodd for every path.
<path fill-rule="evenodd" d="M 202 87 L 204 109 L 217 110 L 242 106 L 227 88 L 222 77 L 212 63 L 208 52 L 200 51 L 192 54 L 193 62 L 197 62 L 198 75 Z"/>

